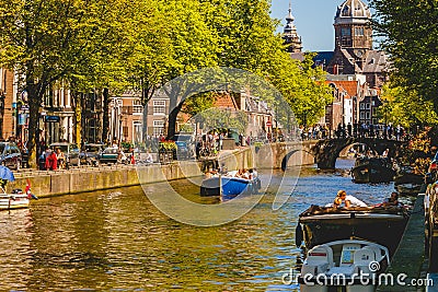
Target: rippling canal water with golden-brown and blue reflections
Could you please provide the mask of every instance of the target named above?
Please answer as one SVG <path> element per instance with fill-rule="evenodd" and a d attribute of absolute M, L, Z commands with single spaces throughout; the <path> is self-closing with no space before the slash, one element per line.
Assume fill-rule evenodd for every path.
<path fill-rule="evenodd" d="M 341 188 L 368 203 L 393 190 L 392 184 L 353 184 L 351 165 L 338 160 L 336 172 L 302 168 L 289 200 L 274 211 L 278 171 L 253 210 L 214 227 L 168 218 L 140 187 L 39 199 L 27 210 L 0 212 L 1 290 L 299 291 L 283 280 L 302 258 L 295 245 L 298 214 L 311 203 L 332 202 Z M 220 203 L 201 199 L 186 180 L 171 184 L 191 200 Z M 146 191 L 162 189 L 154 184 Z"/>

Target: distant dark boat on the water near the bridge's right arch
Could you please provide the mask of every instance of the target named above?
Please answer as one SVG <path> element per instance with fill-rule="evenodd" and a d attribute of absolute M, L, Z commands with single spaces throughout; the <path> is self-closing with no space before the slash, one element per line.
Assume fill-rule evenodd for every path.
<path fill-rule="evenodd" d="M 395 172 L 388 157 L 360 156 L 351 168 L 353 180 L 357 184 L 389 183 L 394 179 Z"/>

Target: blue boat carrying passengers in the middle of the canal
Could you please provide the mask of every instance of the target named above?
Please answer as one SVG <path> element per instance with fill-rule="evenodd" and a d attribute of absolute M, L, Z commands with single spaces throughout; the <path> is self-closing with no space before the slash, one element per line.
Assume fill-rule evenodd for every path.
<path fill-rule="evenodd" d="M 260 178 L 214 176 L 203 180 L 200 196 L 221 196 L 223 200 L 229 200 L 241 194 L 257 194 L 260 188 Z"/>

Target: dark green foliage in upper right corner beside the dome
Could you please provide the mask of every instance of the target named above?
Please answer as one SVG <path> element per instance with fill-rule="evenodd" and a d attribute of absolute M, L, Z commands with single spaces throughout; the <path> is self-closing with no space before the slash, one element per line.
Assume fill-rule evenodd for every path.
<path fill-rule="evenodd" d="M 390 54 L 395 70 L 393 82 L 431 101 L 438 110 L 438 1 L 372 0 L 374 31 Z M 406 101 L 407 102 L 407 101 Z"/>

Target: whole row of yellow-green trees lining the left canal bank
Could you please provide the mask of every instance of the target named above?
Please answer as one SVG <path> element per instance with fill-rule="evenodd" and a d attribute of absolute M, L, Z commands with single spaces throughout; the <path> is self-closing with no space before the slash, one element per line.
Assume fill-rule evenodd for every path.
<path fill-rule="evenodd" d="M 0 1 L 0 66 L 23 78 L 20 87 L 30 101 L 31 153 L 39 138 L 43 96 L 55 84 L 72 94 L 80 141 L 81 107 L 88 93 L 103 94 L 106 129 L 112 95 L 139 91 L 146 105 L 169 81 L 208 67 L 257 74 L 278 92 L 251 92 L 251 85 L 257 86 L 250 84 L 252 80 L 249 87 L 234 90 L 249 90 L 277 110 L 285 107 L 275 104 L 281 94 L 299 118 L 306 114 L 308 124 L 315 122 L 330 101 L 322 72 L 311 68 L 310 56 L 298 62 L 285 52 L 275 33 L 278 21 L 270 19 L 269 10 L 269 0 Z M 169 116 L 170 135 L 182 108 L 178 101 L 201 92 L 193 84 L 203 80 L 192 80 L 192 87 L 180 81 L 163 90 L 176 109 Z M 211 98 L 203 98 L 205 104 L 192 103 L 187 108 L 207 108 Z M 147 113 L 143 116 L 146 125 Z"/>

